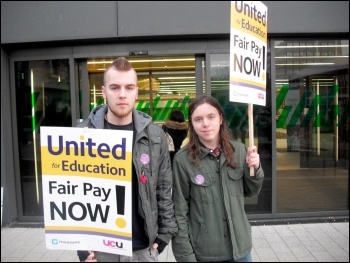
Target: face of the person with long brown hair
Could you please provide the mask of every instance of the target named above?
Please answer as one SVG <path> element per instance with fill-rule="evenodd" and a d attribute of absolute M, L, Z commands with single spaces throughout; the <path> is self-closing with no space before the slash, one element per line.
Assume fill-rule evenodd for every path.
<path fill-rule="evenodd" d="M 219 145 L 222 116 L 215 107 L 207 103 L 199 105 L 193 111 L 191 121 L 199 140 L 207 148 L 214 149 Z"/>

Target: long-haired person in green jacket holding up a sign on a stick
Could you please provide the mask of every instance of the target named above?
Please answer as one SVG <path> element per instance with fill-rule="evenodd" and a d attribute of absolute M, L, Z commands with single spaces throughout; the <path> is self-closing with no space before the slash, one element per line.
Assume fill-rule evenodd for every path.
<path fill-rule="evenodd" d="M 201 96 L 189 107 L 189 143 L 173 161 L 177 261 L 252 261 L 244 197 L 260 192 L 264 172 L 255 146 L 233 141 L 218 101 Z M 255 175 L 250 176 L 250 167 Z"/>

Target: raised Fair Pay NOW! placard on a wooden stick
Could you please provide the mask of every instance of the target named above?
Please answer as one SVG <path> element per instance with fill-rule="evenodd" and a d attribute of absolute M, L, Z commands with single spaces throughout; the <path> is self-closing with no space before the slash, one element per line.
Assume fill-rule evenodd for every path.
<path fill-rule="evenodd" d="M 253 104 L 266 103 L 266 60 L 267 7 L 259 1 L 231 1 L 230 101 L 248 103 L 249 146 L 254 145 Z"/>

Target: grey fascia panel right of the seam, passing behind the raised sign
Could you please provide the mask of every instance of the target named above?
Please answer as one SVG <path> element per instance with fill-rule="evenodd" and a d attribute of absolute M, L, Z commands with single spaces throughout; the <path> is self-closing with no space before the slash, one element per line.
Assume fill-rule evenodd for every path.
<path fill-rule="evenodd" d="M 349 32 L 347 1 L 262 2 L 268 8 L 268 33 Z M 229 34 L 230 5 L 230 1 L 119 1 L 118 36 Z"/>

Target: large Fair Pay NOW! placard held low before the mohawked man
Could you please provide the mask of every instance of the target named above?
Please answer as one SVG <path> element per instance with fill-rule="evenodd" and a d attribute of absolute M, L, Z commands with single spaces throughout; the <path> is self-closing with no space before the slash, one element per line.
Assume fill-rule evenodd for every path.
<path fill-rule="evenodd" d="M 48 249 L 132 255 L 132 131 L 41 127 Z"/>

